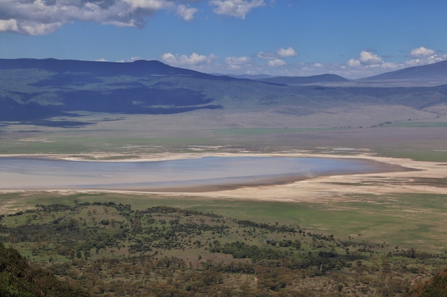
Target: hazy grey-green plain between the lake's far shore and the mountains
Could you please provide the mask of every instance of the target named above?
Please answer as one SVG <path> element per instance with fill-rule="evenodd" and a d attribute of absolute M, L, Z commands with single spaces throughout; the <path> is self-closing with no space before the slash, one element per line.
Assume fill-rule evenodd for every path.
<path fill-rule="evenodd" d="M 446 162 L 446 129 L 439 122 L 430 127 L 264 127 L 214 128 L 212 125 L 169 127 L 162 118 L 135 115 L 85 115 L 86 122 L 110 118 L 101 126 L 83 128 L 0 126 L 0 154 L 61 154 L 88 157 L 113 155 L 112 159 L 156 153 L 313 152 L 356 155 L 368 152 L 383 157 Z M 191 115 L 192 117 L 192 115 Z M 171 119 L 191 120 L 189 116 Z M 166 120 L 169 121 L 169 118 Z M 159 123 L 160 122 L 160 123 Z M 416 121 L 410 121 L 417 124 Z M 179 124 L 181 125 L 181 124 Z M 164 127 L 168 126 L 168 127 Z M 352 151 L 336 150 L 351 147 Z"/>

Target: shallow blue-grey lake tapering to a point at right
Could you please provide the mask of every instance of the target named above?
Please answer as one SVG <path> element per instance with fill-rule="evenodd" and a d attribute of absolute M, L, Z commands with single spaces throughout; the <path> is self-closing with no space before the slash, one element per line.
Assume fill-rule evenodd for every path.
<path fill-rule="evenodd" d="M 151 162 L 0 157 L 0 189 L 175 191 L 186 187 L 237 187 L 327 174 L 391 171 L 388 167 L 370 160 L 318 157 L 203 157 Z"/>

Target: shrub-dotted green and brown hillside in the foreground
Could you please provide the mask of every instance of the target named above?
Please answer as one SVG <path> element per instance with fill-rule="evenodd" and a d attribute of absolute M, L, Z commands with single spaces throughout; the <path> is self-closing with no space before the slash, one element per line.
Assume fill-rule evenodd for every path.
<path fill-rule="evenodd" d="M 446 260 L 443 251 L 316 233 L 279 219 L 279 204 L 275 222 L 260 222 L 191 200 L 189 209 L 134 209 L 74 198 L 2 216 L 0 241 L 91 296 L 403 296 Z"/>

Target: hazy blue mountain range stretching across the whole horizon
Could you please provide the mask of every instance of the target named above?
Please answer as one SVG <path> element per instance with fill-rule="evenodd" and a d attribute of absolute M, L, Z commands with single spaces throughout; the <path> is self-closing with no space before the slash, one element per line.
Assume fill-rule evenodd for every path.
<path fill-rule="evenodd" d="M 0 59 L 0 122 L 48 124 L 53 117 L 80 112 L 180 115 L 199 110 L 202 116 L 238 115 L 236 126 L 248 114 L 249 125 L 261 126 L 270 123 L 265 118 L 281 125 L 281 117 L 288 125 L 311 117 L 321 118 L 323 125 L 325 115 L 338 116 L 327 125 L 349 125 L 349 118 L 368 123 L 436 118 L 446 111 L 446 69 L 442 61 L 348 80 L 333 74 L 211 75 L 159 61 Z"/>

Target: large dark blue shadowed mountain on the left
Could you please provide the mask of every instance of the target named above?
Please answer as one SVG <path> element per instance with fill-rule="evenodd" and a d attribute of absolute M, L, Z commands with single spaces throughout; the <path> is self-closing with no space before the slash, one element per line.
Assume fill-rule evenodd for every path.
<path fill-rule="evenodd" d="M 219 108 L 189 88 L 161 78 L 234 80 L 159 61 L 107 63 L 56 59 L 0 59 L 0 120 L 69 115 L 73 110 L 106 113 L 183 113 Z M 149 85 L 147 85 L 149 83 Z"/>

